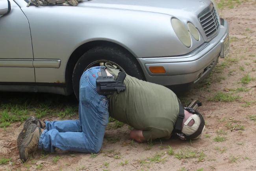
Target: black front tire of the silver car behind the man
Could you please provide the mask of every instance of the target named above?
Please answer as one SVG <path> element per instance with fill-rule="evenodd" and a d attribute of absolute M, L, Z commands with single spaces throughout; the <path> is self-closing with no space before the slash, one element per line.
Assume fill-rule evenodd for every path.
<path fill-rule="evenodd" d="M 78 100 L 80 78 L 85 71 L 85 68 L 89 64 L 99 60 L 108 60 L 116 63 L 126 72 L 126 74 L 137 79 L 145 80 L 141 66 L 131 53 L 116 47 L 97 46 L 84 53 L 74 67 L 72 84 L 74 94 Z"/>

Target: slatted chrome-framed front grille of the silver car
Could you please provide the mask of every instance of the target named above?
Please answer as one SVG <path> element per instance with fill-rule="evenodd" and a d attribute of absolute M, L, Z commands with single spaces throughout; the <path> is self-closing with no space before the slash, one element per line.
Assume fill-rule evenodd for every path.
<path fill-rule="evenodd" d="M 219 30 L 220 22 L 213 4 L 198 15 L 198 19 L 204 29 L 206 37 L 209 39 Z"/>

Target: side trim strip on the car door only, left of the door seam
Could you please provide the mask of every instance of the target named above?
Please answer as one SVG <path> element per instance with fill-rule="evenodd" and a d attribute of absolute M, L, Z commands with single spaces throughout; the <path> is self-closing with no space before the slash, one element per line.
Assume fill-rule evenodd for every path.
<path fill-rule="evenodd" d="M 0 67 L 33 68 L 32 59 L 0 59 Z"/>

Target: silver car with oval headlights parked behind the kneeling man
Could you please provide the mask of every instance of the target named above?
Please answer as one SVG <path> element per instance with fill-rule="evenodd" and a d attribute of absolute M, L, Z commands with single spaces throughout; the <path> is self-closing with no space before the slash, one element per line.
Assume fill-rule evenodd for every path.
<path fill-rule="evenodd" d="M 189 89 L 229 51 L 213 0 L 0 0 L 0 91 L 78 97 L 82 73 L 110 62 L 152 83 Z"/>

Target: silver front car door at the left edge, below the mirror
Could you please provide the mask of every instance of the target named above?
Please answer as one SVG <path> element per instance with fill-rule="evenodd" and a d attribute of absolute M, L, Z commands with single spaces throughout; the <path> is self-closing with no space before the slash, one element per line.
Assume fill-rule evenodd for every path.
<path fill-rule="evenodd" d="M 34 83 L 33 50 L 28 20 L 20 7 L 9 0 L 11 11 L 0 16 L 0 85 Z"/>

